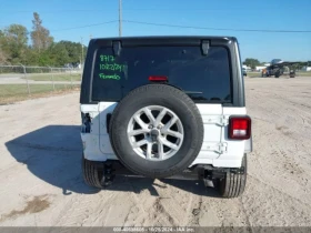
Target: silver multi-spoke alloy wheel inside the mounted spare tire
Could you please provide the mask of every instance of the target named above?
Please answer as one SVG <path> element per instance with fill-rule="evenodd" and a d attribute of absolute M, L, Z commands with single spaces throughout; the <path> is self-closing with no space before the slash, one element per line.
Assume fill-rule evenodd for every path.
<path fill-rule="evenodd" d="M 157 118 L 152 114 L 154 112 Z M 148 118 L 148 123 L 143 120 Z M 170 119 L 163 123 L 163 119 Z M 131 118 L 128 136 L 133 151 L 146 160 L 163 161 L 173 156 L 182 145 L 183 126 L 179 116 L 168 108 L 150 105 Z"/>

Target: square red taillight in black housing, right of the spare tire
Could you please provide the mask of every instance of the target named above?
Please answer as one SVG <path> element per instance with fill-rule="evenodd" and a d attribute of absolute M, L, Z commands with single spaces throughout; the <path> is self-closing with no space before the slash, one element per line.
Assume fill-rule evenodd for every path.
<path fill-rule="evenodd" d="M 249 116 L 231 116 L 229 119 L 229 139 L 245 140 L 251 136 L 251 119 Z"/>

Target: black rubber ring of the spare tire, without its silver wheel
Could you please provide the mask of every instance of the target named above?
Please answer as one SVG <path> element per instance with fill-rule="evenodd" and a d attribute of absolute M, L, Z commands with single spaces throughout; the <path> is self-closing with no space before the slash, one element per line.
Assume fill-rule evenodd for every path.
<path fill-rule="evenodd" d="M 200 114 L 193 110 L 194 103 L 189 107 L 184 101 L 184 99 L 190 100 L 184 93 L 177 89 L 174 92 L 159 92 L 156 89 L 156 87 L 151 88 L 148 95 L 146 92 L 139 92 L 133 98 L 124 100 L 118 113 L 112 114 L 110 139 L 117 156 L 130 170 L 144 176 L 164 178 L 185 169 L 197 158 L 202 145 L 203 135 L 200 128 L 203 128 L 203 124 Z M 187 98 L 180 98 L 180 95 Z M 184 138 L 180 150 L 163 161 L 149 161 L 139 156 L 133 151 L 127 134 L 132 115 L 149 105 L 168 108 L 178 115 L 183 126 Z"/>

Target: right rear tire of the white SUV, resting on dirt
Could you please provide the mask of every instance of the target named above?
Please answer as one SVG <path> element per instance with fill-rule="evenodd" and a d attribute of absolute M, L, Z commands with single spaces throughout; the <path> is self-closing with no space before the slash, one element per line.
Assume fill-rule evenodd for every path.
<path fill-rule="evenodd" d="M 247 184 L 247 155 L 242 160 L 241 170 L 243 172 L 227 172 L 224 178 L 219 180 L 219 193 L 222 197 L 238 197 L 244 192 Z"/>

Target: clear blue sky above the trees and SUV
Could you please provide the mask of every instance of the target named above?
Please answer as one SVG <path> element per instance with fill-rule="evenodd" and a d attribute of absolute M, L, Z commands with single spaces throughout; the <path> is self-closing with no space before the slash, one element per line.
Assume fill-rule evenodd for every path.
<path fill-rule="evenodd" d="M 119 36 L 119 0 L 0 0 L 0 29 L 19 23 L 31 31 L 34 11 L 56 41 L 82 40 L 87 45 L 90 38 Z M 255 58 L 261 62 L 274 58 L 311 60 L 310 21 L 311 0 L 122 0 L 123 37 L 231 36 L 238 38 L 243 60 Z M 309 32 L 269 33 L 237 29 Z"/>

